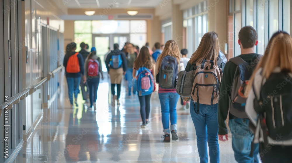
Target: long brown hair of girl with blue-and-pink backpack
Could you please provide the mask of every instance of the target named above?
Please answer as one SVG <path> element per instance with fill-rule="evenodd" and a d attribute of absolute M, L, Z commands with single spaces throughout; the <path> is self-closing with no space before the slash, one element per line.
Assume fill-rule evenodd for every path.
<path fill-rule="evenodd" d="M 135 67 L 146 67 L 148 69 L 152 69 L 153 67 L 153 59 L 149 53 L 149 49 L 146 46 L 143 46 L 138 54 L 137 58 L 134 61 Z"/>

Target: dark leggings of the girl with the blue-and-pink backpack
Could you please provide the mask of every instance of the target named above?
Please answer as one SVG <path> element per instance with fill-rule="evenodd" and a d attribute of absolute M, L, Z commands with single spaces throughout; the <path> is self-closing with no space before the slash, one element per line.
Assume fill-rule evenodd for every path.
<path fill-rule="evenodd" d="M 146 119 L 149 119 L 149 114 L 150 114 L 150 95 L 146 96 L 138 96 L 139 101 L 140 101 L 140 113 L 141 113 L 141 118 L 142 122 L 146 123 Z"/>

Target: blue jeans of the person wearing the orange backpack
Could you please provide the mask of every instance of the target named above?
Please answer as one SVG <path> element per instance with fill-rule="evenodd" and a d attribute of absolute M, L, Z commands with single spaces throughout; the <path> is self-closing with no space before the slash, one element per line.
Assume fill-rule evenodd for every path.
<path fill-rule="evenodd" d="M 73 104 L 73 92 L 74 92 L 74 97 L 77 98 L 77 95 L 79 93 L 79 84 L 80 84 L 81 77 L 66 77 L 66 78 L 67 78 L 67 84 L 68 84 L 70 104 Z"/>

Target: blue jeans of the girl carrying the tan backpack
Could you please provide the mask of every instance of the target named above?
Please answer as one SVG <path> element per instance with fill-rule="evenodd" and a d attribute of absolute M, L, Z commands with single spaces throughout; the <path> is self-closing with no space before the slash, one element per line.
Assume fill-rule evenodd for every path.
<path fill-rule="evenodd" d="M 197 105 L 197 102 L 191 100 L 190 112 L 196 130 L 201 163 L 208 162 L 207 141 L 211 163 L 219 163 L 218 104 L 200 104 L 199 114 Z"/>

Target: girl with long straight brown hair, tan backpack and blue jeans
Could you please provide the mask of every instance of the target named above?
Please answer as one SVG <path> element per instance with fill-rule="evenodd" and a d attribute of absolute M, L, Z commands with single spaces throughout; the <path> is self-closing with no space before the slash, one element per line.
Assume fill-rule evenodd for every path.
<path fill-rule="evenodd" d="M 190 113 L 201 163 L 208 162 L 207 141 L 211 163 L 219 163 L 217 108 L 222 71 L 217 66 L 218 54 L 217 33 L 205 33 L 185 69 L 187 72 L 195 70 Z"/>

